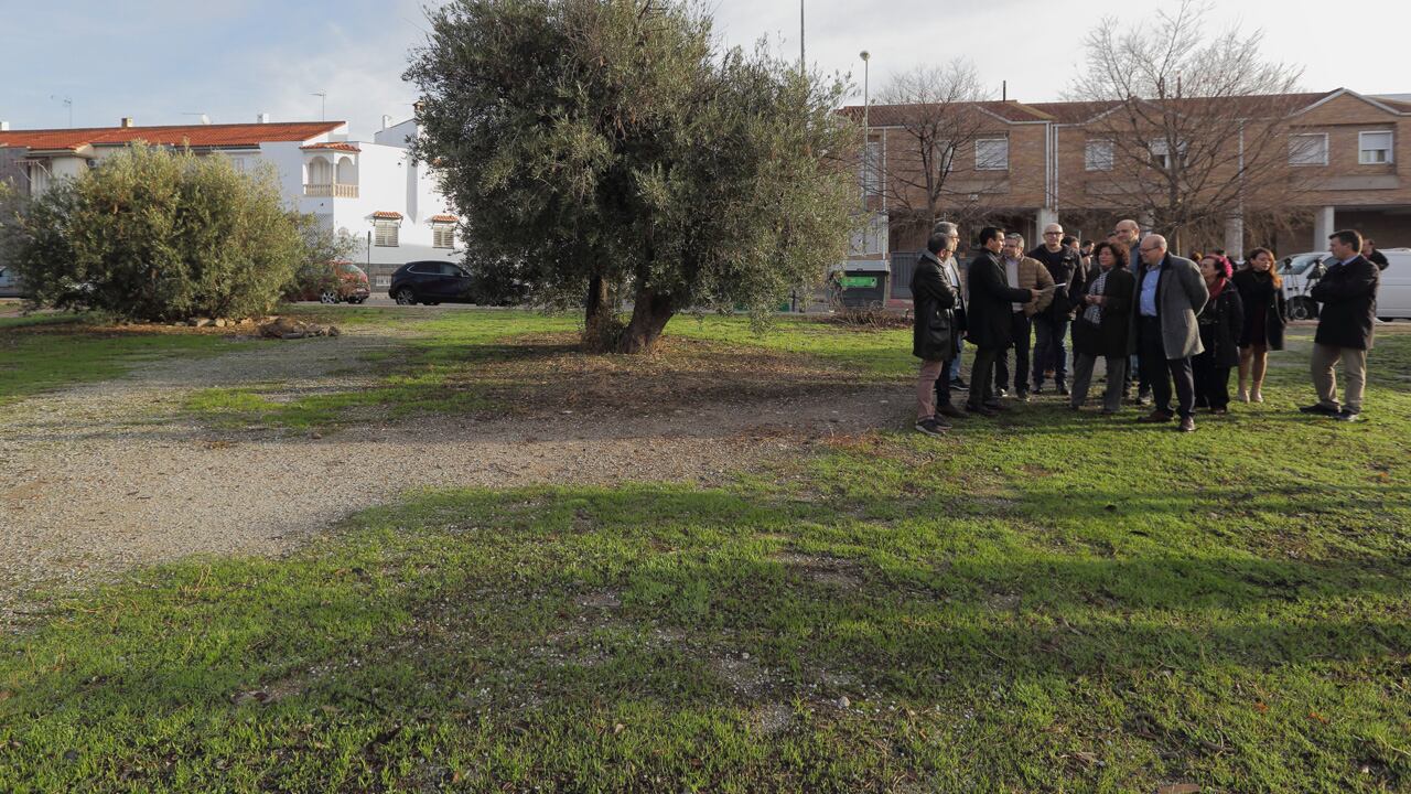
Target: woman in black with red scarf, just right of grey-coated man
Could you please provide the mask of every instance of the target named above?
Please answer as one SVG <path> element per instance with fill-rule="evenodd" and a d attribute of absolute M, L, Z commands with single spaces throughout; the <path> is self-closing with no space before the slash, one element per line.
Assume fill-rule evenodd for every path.
<path fill-rule="evenodd" d="M 1245 305 L 1230 284 L 1230 260 L 1209 254 L 1201 260 L 1201 275 L 1211 300 L 1197 318 L 1202 353 L 1191 359 L 1195 376 L 1195 405 L 1212 414 L 1228 414 L 1230 370 L 1239 366 L 1239 339 L 1245 332 Z"/>

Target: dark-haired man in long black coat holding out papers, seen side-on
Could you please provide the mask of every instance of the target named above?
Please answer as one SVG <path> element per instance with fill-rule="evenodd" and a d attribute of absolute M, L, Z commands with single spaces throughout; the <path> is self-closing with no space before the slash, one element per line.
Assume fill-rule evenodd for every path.
<path fill-rule="evenodd" d="M 1003 229 L 981 229 L 979 246 L 968 278 L 965 339 L 975 345 L 975 363 L 971 366 L 971 393 L 965 410 L 993 417 L 999 410 L 999 400 L 995 398 L 995 362 L 1010 342 L 1012 305 L 1037 301 L 1038 290 L 1009 285 L 1005 268 L 999 264 L 999 251 L 1005 250 Z"/>

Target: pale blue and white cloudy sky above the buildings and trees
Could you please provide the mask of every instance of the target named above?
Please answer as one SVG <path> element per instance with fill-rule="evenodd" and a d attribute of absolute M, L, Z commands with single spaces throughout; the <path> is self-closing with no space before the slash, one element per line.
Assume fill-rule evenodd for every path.
<path fill-rule="evenodd" d="M 433 0 L 435 1 L 435 0 Z M 700 0 L 725 45 L 799 54 L 799 0 Z M 401 79 L 426 37 L 423 0 L 0 0 L 0 120 L 11 129 L 347 120 L 367 138 L 412 114 Z M 917 65 L 967 58 L 998 97 L 1061 100 L 1103 17 L 1150 25 L 1161 0 L 804 0 L 811 68 L 851 75 L 862 100 Z M 1329 18 L 1329 8 L 1345 8 Z M 1411 93 L 1405 0 L 1213 0 L 1206 37 L 1263 30 L 1264 57 L 1302 68 L 1305 90 Z M 1338 27 L 1346 28 L 1340 32 Z M 1333 38 L 1342 35 L 1342 38 Z M 18 65 L 18 68 L 16 68 Z M 69 106 L 68 103 L 72 103 Z"/>

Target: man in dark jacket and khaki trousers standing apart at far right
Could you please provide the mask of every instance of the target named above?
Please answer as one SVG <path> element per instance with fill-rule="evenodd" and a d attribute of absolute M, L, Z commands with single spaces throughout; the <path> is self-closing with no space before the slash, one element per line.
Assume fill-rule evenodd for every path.
<path fill-rule="evenodd" d="M 1371 329 L 1377 322 L 1381 271 L 1359 253 L 1362 235 L 1357 232 L 1335 232 L 1328 237 L 1328 250 L 1338 261 L 1309 292 L 1322 304 L 1312 359 L 1318 403 L 1300 410 L 1355 422 L 1362 415 L 1362 391 L 1367 384 L 1367 350 L 1371 349 Z M 1348 379 L 1340 405 L 1335 372 L 1338 362 L 1342 362 Z"/>

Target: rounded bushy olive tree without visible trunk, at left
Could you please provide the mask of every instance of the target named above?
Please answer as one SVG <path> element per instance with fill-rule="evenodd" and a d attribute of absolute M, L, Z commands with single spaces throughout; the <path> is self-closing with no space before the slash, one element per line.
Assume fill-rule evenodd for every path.
<path fill-rule="evenodd" d="M 272 170 L 141 144 L 11 202 L 0 237 L 32 305 L 148 321 L 267 312 L 305 256 Z"/>

